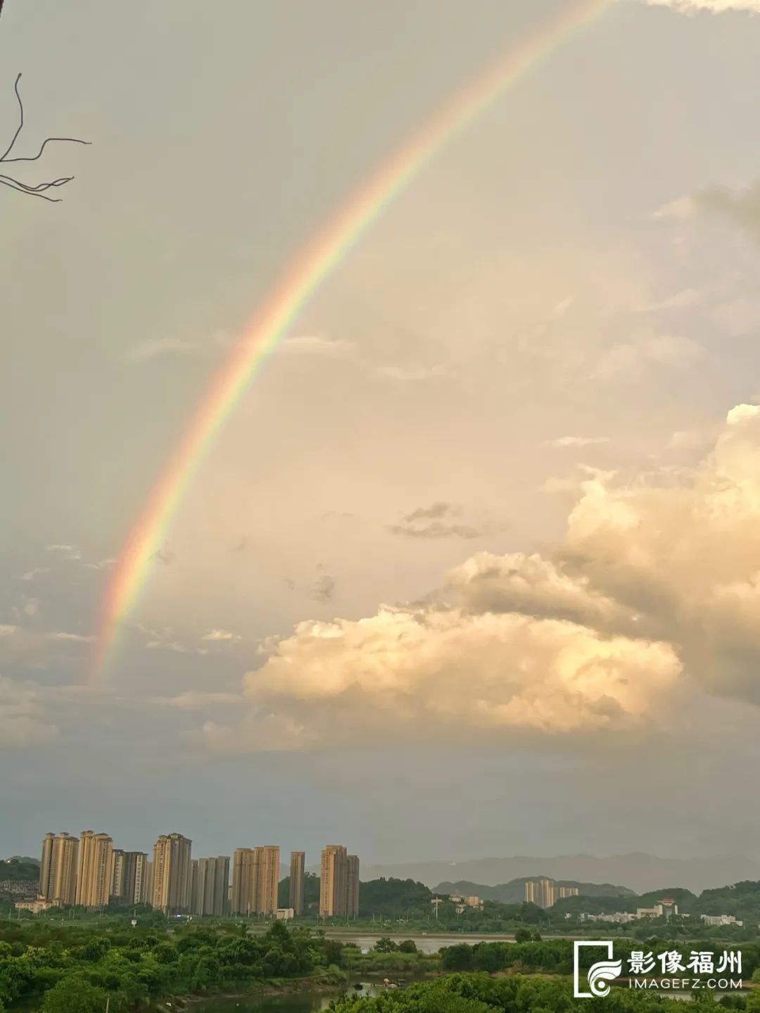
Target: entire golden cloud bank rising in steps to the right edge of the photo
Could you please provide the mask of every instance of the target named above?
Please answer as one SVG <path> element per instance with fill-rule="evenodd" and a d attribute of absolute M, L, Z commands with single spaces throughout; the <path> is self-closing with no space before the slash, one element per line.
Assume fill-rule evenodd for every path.
<path fill-rule="evenodd" d="M 691 468 L 588 471 L 551 558 L 478 553 L 424 605 L 303 622 L 266 653 L 212 748 L 622 741 L 695 693 L 760 704 L 760 407 Z"/>

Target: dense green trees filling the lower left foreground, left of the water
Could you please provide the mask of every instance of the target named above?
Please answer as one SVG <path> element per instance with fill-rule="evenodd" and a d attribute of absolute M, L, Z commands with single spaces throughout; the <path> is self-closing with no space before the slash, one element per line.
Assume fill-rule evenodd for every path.
<path fill-rule="evenodd" d="M 322 934 L 275 922 L 259 936 L 215 929 L 97 929 L 0 923 L 0 1011 L 124 1013 L 156 999 L 246 988 L 266 979 L 329 976 L 336 947 Z M 340 980 L 340 972 L 333 969 Z"/>

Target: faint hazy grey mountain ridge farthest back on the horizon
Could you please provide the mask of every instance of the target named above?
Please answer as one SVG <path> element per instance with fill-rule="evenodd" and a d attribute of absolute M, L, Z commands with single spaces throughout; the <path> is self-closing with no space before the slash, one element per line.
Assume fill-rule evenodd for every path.
<path fill-rule="evenodd" d="M 548 876 L 561 882 L 624 883 L 636 893 L 657 890 L 661 883 L 677 883 L 699 893 L 740 880 L 760 879 L 760 862 L 743 855 L 717 858 L 658 858 L 632 852 L 597 858 L 593 855 L 555 855 L 531 858 L 478 858 L 467 862 L 408 862 L 399 865 L 362 865 L 361 878 L 414 879 L 434 887 L 440 883 L 473 882 L 488 886 L 514 879 Z"/>

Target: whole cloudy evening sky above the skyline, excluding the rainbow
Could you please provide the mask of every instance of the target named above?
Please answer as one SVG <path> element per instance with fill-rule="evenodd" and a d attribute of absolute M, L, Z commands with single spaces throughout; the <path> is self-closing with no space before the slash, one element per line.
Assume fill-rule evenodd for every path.
<path fill-rule="evenodd" d="M 760 857 L 760 3 L 611 0 L 330 275 L 88 682 L 257 308 L 559 0 L 7 0 L 0 855 Z M 0 150 L 5 145 L 0 143 Z M 23 150 L 22 150 L 23 149 Z M 730 845 L 727 845 L 727 841 Z"/>

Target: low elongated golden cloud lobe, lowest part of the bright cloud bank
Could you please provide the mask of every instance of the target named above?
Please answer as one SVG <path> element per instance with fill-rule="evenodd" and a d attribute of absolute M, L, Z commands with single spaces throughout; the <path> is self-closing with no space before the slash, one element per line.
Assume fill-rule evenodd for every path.
<path fill-rule="evenodd" d="M 287 721 L 285 748 L 573 733 L 636 724 L 670 694 L 667 644 L 575 623 L 460 609 L 382 609 L 358 622 L 301 623 L 244 682 L 246 731 Z M 298 732 L 297 734 L 294 734 Z M 294 737 L 293 737 L 294 735 Z M 268 747 L 272 748 L 272 747 Z"/>

